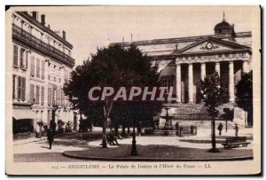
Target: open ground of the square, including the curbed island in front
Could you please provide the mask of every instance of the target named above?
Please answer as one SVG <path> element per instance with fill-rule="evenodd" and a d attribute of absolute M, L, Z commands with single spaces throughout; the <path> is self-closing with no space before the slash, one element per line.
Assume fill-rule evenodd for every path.
<path fill-rule="evenodd" d="M 137 136 L 137 157 L 130 157 L 132 137 L 118 139 L 119 145 L 108 145 L 101 148 L 101 129 L 95 128 L 93 132 L 75 133 L 66 137 L 55 137 L 52 149 L 49 149 L 45 137 L 42 139 L 25 139 L 14 141 L 14 161 L 83 161 L 83 160 L 213 160 L 253 156 L 253 129 L 239 130 L 239 136 L 247 137 L 250 145 L 246 147 L 224 149 L 222 143 L 225 137 L 233 137 L 234 129 L 223 131 L 222 136 L 216 136 L 216 145 L 220 153 L 208 153 L 211 148 L 210 129 L 199 129 L 196 136 Z M 217 132 L 216 132 L 217 133 Z M 208 134 L 208 135 L 207 135 Z M 94 137 L 95 139 L 81 140 L 76 137 Z M 32 142 L 34 141 L 34 142 Z M 23 152 L 23 153 L 21 153 Z M 64 156 L 63 153 L 68 156 Z M 75 158 L 76 156 L 77 158 Z"/>

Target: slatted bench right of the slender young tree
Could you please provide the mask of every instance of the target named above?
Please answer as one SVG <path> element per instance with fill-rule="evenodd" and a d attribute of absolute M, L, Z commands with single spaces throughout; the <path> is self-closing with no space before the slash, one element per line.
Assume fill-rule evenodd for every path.
<path fill-rule="evenodd" d="M 234 148 L 242 145 L 246 147 L 250 142 L 246 142 L 246 137 L 230 137 L 225 138 L 225 142 L 222 144 L 224 148 Z"/>

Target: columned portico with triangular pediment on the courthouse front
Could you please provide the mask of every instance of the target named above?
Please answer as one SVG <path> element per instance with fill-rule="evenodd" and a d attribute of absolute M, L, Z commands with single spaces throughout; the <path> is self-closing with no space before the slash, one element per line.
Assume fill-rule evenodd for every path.
<path fill-rule="evenodd" d="M 174 54 L 176 63 L 176 102 L 200 103 L 200 80 L 217 72 L 228 86 L 224 98 L 235 102 L 235 83 L 241 72 L 250 70 L 251 51 L 238 43 L 208 37 Z"/>

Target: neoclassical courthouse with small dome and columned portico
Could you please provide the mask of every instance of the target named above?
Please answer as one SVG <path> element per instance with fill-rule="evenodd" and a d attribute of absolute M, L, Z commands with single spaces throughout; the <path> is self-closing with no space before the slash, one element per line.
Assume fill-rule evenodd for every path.
<path fill-rule="evenodd" d="M 235 32 L 224 14 L 222 22 L 215 25 L 213 35 L 132 43 L 154 62 L 159 62 L 160 82 L 175 87 L 176 102 L 181 104 L 199 104 L 200 80 L 215 71 L 228 84 L 224 96 L 233 104 L 241 72 L 252 68 L 252 33 Z M 127 47 L 131 43 L 119 44 Z"/>

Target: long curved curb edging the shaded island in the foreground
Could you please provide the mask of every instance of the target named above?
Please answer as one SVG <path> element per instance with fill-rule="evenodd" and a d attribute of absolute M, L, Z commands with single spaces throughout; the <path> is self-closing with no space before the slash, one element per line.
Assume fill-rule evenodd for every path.
<path fill-rule="evenodd" d="M 164 158 L 141 158 L 129 157 L 129 158 L 106 158 L 106 157 L 91 157 L 91 156 L 79 156 L 71 154 L 71 152 L 64 152 L 64 156 L 68 158 L 80 159 L 80 160 L 105 160 L 105 161 L 234 161 L 234 160 L 254 160 L 254 156 L 241 156 L 232 158 L 210 158 L 210 159 L 164 159 Z"/>

